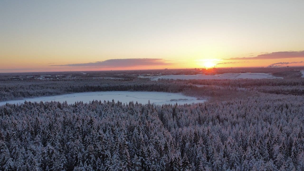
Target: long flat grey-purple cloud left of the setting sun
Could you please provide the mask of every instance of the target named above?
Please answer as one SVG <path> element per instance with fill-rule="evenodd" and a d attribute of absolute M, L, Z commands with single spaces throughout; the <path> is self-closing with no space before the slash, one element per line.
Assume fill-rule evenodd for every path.
<path fill-rule="evenodd" d="M 129 59 L 108 59 L 105 61 L 96 61 L 82 64 L 66 64 L 66 65 L 49 65 L 49 66 L 71 66 L 71 67 L 133 67 L 133 66 L 155 66 L 155 65 L 172 65 L 166 60 L 159 58 L 129 58 Z"/>

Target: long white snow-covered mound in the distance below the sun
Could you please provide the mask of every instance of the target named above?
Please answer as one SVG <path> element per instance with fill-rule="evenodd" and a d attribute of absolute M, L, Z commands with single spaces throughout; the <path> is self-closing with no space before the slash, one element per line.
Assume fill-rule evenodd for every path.
<path fill-rule="evenodd" d="M 162 76 L 147 76 L 141 78 L 150 78 L 151 80 L 158 79 L 277 79 L 281 77 L 274 77 L 266 73 L 225 73 L 217 75 L 162 75 Z"/>

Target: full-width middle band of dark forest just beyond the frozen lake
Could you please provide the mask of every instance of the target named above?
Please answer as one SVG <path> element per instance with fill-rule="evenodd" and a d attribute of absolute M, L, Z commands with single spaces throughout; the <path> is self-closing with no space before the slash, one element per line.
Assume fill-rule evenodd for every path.
<path fill-rule="evenodd" d="M 197 88 L 194 85 L 208 85 Z M 213 85 L 221 86 L 222 90 Z M 241 80 L 159 80 L 149 79 L 72 79 L 72 80 L 5 80 L 0 82 L 0 101 L 17 100 L 30 97 L 55 96 L 74 92 L 95 91 L 157 91 L 204 93 L 206 96 L 226 94 L 235 88 L 246 88 L 250 92 L 275 94 L 304 94 L 304 79 L 241 79 Z M 195 89 L 193 89 L 195 88 Z M 189 91 L 193 90 L 192 93 Z M 217 92 L 217 93 L 214 93 Z M 245 95 L 247 96 L 247 94 Z"/>

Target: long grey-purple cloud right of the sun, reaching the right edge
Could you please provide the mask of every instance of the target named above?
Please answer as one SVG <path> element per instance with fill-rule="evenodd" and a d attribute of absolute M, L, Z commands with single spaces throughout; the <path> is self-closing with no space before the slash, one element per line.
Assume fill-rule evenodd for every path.
<path fill-rule="evenodd" d="M 283 58 L 304 58 L 304 51 L 285 51 L 260 54 L 254 57 L 224 58 L 223 60 L 247 60 L 247 59 L 283 59 Z"/>

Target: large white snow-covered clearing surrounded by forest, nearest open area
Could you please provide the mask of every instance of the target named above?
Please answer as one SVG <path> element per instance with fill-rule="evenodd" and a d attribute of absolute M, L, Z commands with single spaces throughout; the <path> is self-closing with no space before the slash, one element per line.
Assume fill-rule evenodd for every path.
<path fill-rule="evenodd" d="M 107 91 L 107 92 L 81 92 L 58 96 L 48 96 L 48 97 L 37 97 L 31 99 L 23 100 L 11 100 L 6 102 L 0 102 L 0 105 L 5 105 L 6 103 L 24 103 L 24 101 L 30 102 L 40 102 L 40 101 L 67 101 L 68 104 L 74 103 L 75 101 L 83 101 L 88 103 L 92 100 L 112 101 L 112 99 L 117 102 L 119 100 L 122 103 L 129 103 L 137 101 L 138 103 L 150 103 L 156 105 L 162 104 L 185 104 L 185 103 L 203 103 L 206 100 L 198 100 L 196 97 L 184 96 L 181 93 L 169 93 L 169 92 L 130 92 L 130 91 Z"/>

